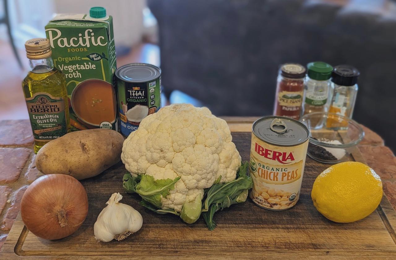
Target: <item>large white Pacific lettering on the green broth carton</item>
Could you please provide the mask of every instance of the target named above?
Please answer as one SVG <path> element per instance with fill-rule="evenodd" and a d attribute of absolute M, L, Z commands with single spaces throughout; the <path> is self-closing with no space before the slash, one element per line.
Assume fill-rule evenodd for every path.
<path fill-rule="evenodd" d="M 94 37 L 95 34 L 93 33 L 92 29 L 86 29 L 84 32 L 84 35 L 82 33 L 78 34 L 78 37 L 71 37 L 67 38 L 64 37 L 62 38 L 62 32 L 58 29 L 55 28 L 48 28 L 46 29 L 48 31 L 48 37 L 49 37 L 49 42 L 51 44 L 51 48 L 55 49 L 54 42 L 56 41 L 57 46 L 63 48 L 63 47 L 90 47 L 92 46 L 106 46 L 107 41 L 105 40 L 105 37 L 103 36 L 98 36 Z"/>

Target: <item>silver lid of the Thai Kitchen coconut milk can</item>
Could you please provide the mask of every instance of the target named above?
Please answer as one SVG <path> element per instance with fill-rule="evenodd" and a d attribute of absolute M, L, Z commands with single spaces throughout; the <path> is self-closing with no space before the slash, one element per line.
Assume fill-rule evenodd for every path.
<path fill-rule="evenodd" d="M 126 82 L 143 83 L 156 80 L 161 76 L 161 69 L 147 63 L 131 63 L 117 68 L 116 76 Z"/>

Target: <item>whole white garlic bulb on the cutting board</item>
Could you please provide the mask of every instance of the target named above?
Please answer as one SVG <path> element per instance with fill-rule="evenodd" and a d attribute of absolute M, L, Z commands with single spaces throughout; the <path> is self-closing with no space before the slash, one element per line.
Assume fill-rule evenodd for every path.
<path fill-rule="evenodd" d="M 109 201 L 106 202 L 107 206 L 101 211 L 93 225 L 96 240 L 109 242 L 116 239 L 120 241 L 142 227 L 142 215 L 133 207 L 119 203 L 121 199 L 120 193 L 113 193 Z"/>

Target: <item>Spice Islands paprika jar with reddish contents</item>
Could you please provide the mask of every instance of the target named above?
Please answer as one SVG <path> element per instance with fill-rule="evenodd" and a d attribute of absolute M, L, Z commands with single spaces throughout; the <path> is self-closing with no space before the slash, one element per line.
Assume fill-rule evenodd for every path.
<path fill-rule="evenodd" d="M 275 93 L 274 116 L 300 119 L 305 73 L 305 67 L 297 63 L 286 63 L 280 67 Z"/>

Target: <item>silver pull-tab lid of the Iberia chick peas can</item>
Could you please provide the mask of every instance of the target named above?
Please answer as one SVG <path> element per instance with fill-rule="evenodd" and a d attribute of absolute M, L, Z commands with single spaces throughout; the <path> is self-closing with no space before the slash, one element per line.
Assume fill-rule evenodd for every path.
<path fill-rule="evenodd" d="M 253 123 L 253 133 L 264 142 L 277 146 L 296 146 L 309 138 L 308 128 L 284 116 L 268 116 Z"/>

